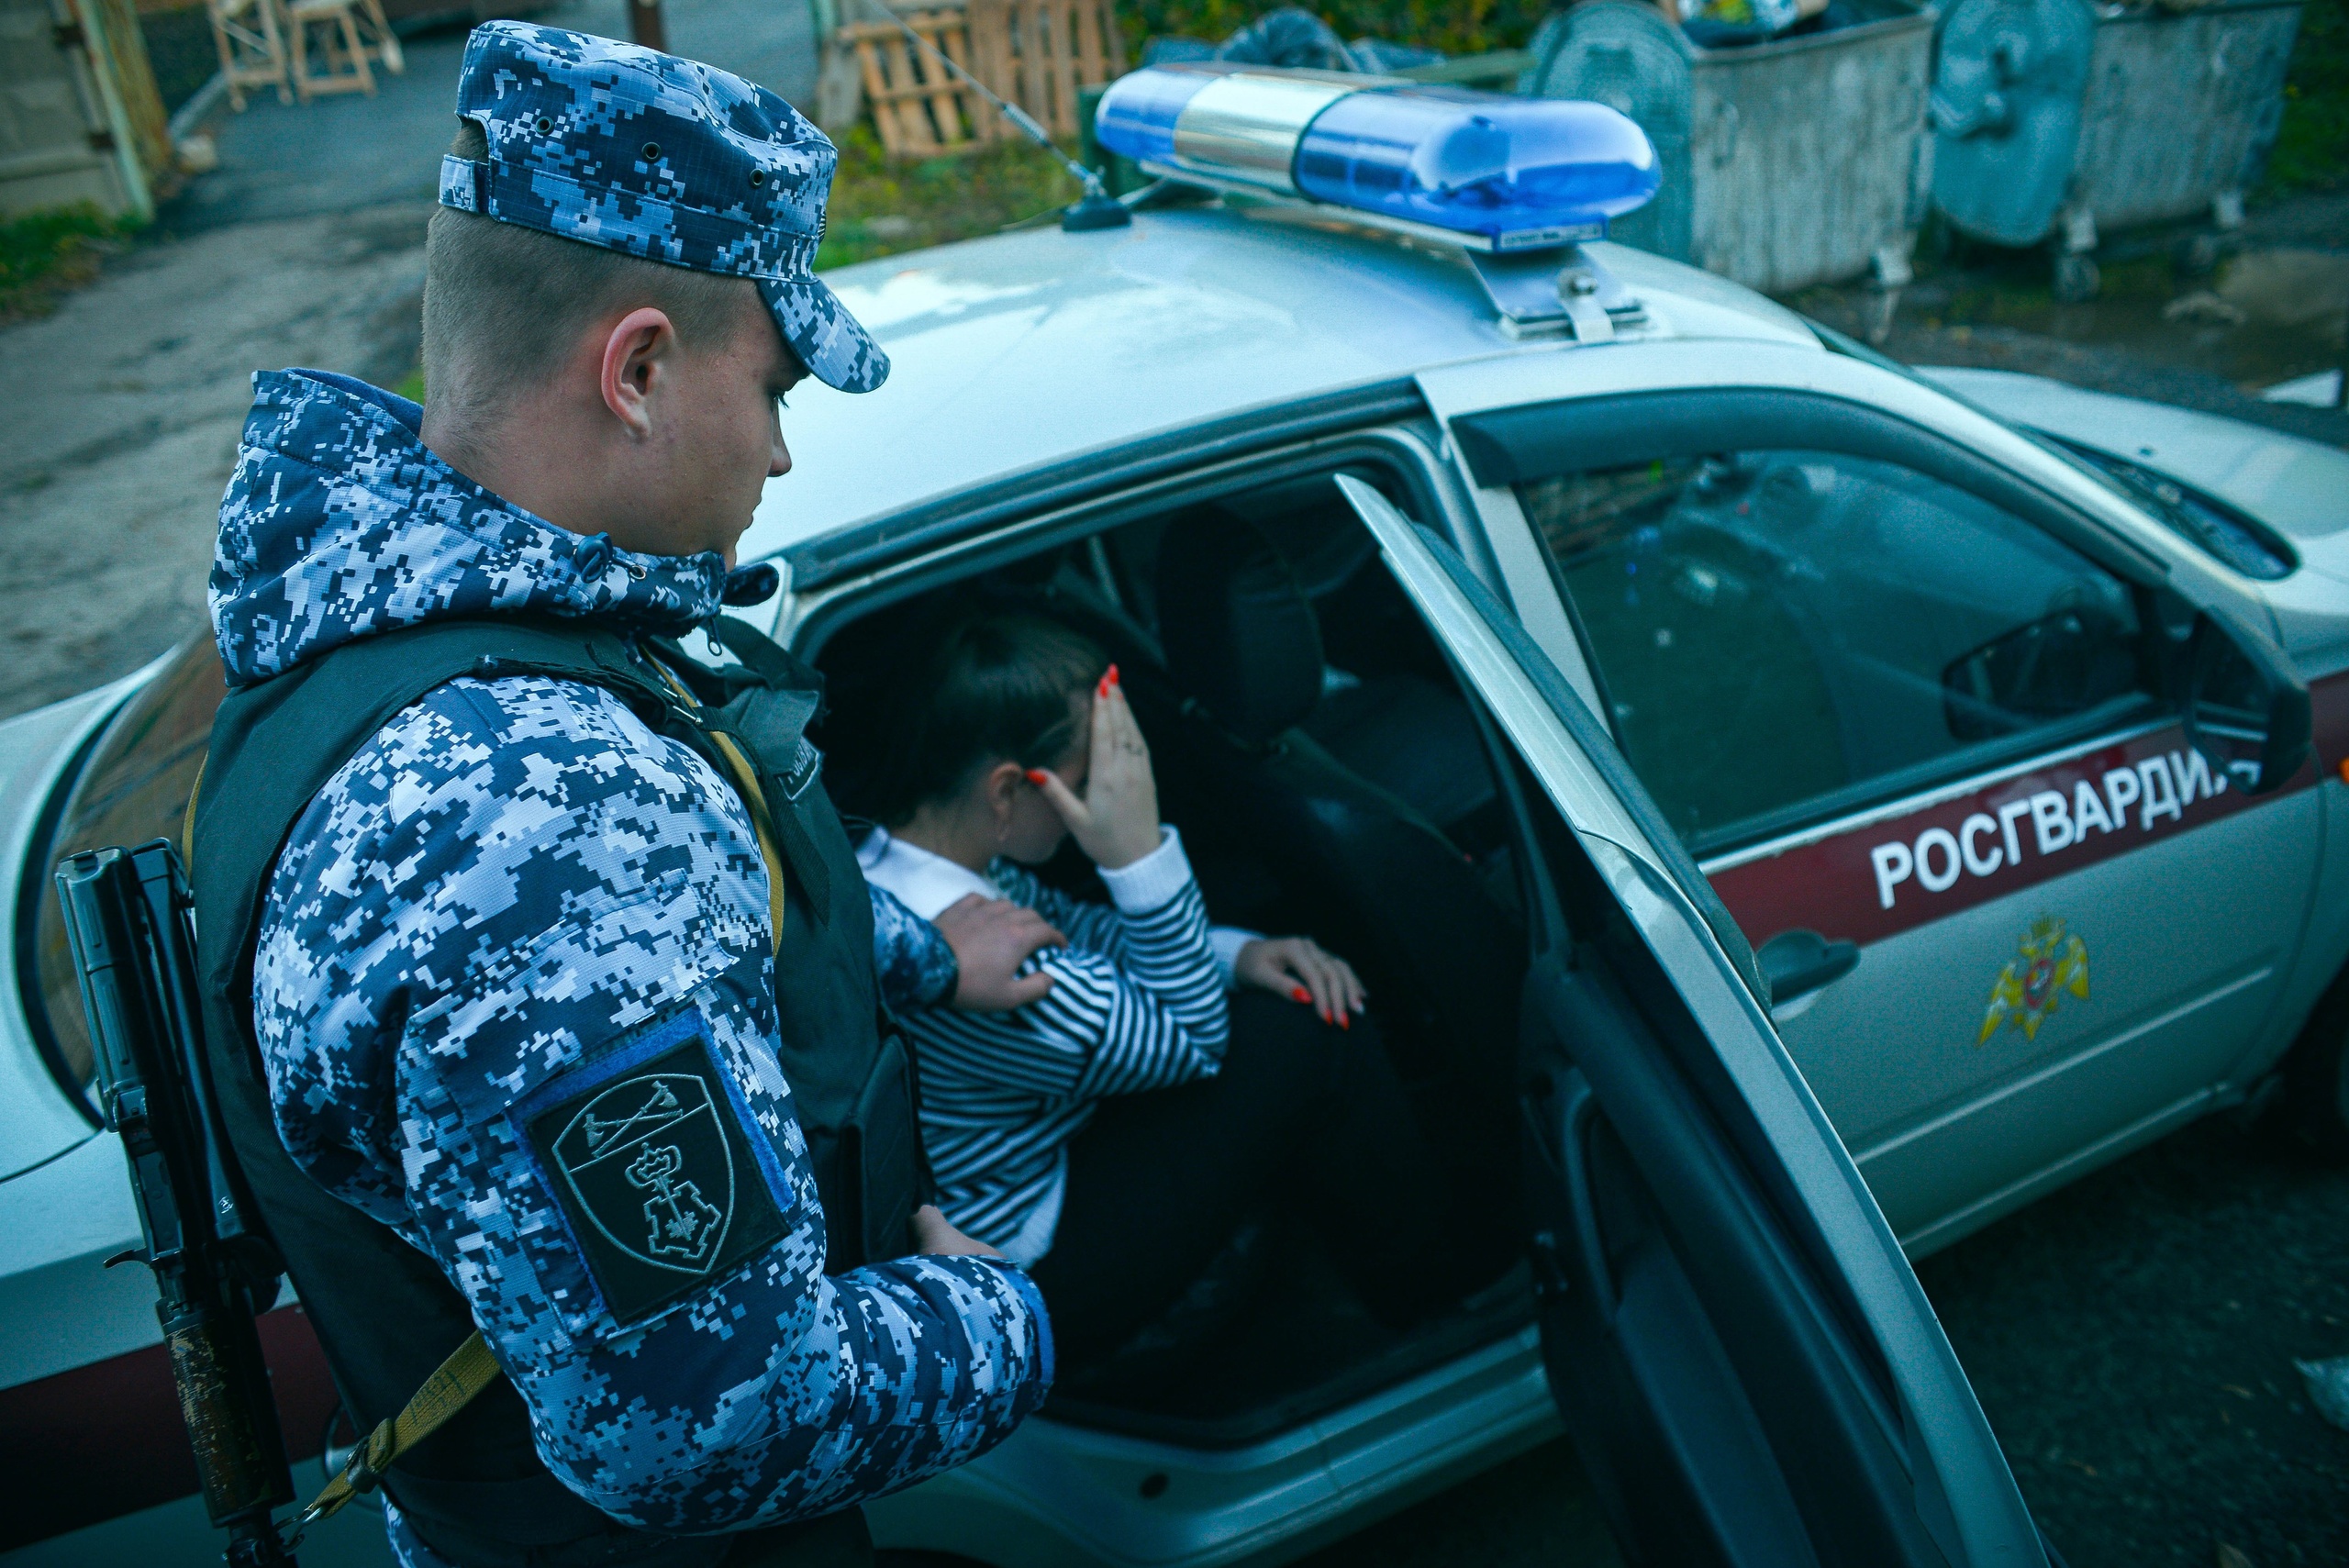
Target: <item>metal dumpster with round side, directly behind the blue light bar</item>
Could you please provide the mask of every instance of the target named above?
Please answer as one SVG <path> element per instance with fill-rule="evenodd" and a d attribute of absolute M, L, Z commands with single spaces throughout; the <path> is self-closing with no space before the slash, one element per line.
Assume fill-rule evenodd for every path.
<path fill-rule="evenodd" d="M 1609 237 L 1750 289 L 1870 268 L 1898 286 L 1931 188 L 1933 12 L 1851 9 L 1856 26 L 1701 49 L 1654 5 L 1590 0 L 1541 23 L 1520 87 L 1607 103 L 1656 143 L 1663 188 Z"/>

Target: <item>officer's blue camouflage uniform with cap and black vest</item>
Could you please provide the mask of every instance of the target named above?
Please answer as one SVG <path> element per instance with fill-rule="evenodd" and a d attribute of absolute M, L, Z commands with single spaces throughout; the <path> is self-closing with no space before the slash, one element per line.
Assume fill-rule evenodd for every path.
<path fill-rule="evenodd" d="M 834 148 L 782 99 L 496 21 L 472 35 L 458 113 L 486 157 L 444 162 L 446 207 L 754 279 L 799 366 L 848 392 L 886 378 L 808 272 Z M 813 1016 L 801 986 L 834 986 L 867 1019 L 864 995 L 942 1005 L 956 953 L 855 876 L 794 725 L 787 758 L 745 775 L 695 730 L 693 688 L 733 688 L 688 669 L 677 638 L 770 594 L 770 568 L 536 516 L 458 472 L 428 427 L 357 380 L 258 376 L 221 507 L 211 617 L 230 699 L 193 876 L 230 1014 L 249 965 L 249 1035 L 242 1016 L 230 1028 L 265 1101 L 240 1124 L 228 1091 L 240 1160 L 362 1425 L 467 1319 L 512 1385 L 416 1451 L 432 1462 L 390 1472 L 402 1563 L 857 1561 L 860 1500 L 984 1453 L 1050 1383 L 1036 1286 L 935 1209 L 914 1225 L 923 1256 L 827 1230 L 808 1082 L 794 1094 L 785 1073 L 829 1049 L 792 1023 Z M 355 753 L 317 742 L 331 777 L 287 807 L 270 859 L 282 824 L 254 829 L 256 791 L 334 704 L 261 744 L 268 711 L 298 714 L 303 681 L 315 697 L 371 648 L 397 667 L 425 638 L 507 624 L 604 641 L 578 674 L 484 655 L 364 721 Z M 749 664 L 782 671 L 780 695 L 752 697 L 799 702 L 806 721 L 815 697 L 785 690 L 789 655 L 752 643 Z M 604 681 L 597 648 L 627 671 Z M 667 718 L 662 683 L 679 692 Z M 244 913 L 221 892 L 240 831 L 261 843 Z M 806 974 L 778 958 L 787 939 Z M 886 1021 L 860 1028 L 871 1052 Z M 862 1153 L 867 1202 L 876 1157 Z M 855 1268 L 827 1272 L 827 1253 Z"/>

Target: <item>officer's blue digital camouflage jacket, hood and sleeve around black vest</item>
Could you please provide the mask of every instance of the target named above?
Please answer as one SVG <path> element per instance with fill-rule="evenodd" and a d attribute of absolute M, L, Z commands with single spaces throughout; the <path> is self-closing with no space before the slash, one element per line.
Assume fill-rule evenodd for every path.
<path fill-rule="evenodd" d="M 233 685 L 437 615 L 677 636 L 719 610 L 719 556 L 554 528 L 449 469 L 418 418 L 338 376 L 256 378 L 211 573 Z M 944 941 L 871 897 L 883 995 L 940 1002 Z M 439 1263 L 547 1467 L 653 1530 L 876 1498 L 987 1451 L 1050 1383 L 1017 1268 L 822 1272 L 768 920 L 735 791 L 608 690 L 540 676 L 451 681 L 385 725 L 303 812 L 263 904 L 254 1033 L 294 1162 Z M 763 1185 L 782 1235 L 622 1329 L 510 1113 L 679 1030 L 721 1068 L 728 1136 L 756 1145 L 738 1181 Z M 435 1561 L 397 1514 L 392 1542 Z"/>

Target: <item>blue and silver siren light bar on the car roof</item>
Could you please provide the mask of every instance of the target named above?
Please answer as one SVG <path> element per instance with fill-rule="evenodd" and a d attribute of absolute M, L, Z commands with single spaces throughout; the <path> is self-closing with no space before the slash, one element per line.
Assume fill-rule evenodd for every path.
<path fill-rule="evenodd" d="M 1111 82 L 1095 129 L 1158 178 L 1334 207 L 1456 244 L 1506 331 L 1571 329 L 1590 343 L 1640 319 L 1640 300 L 1581 249 L 1661 178 L 1647 131 L 1604 103 L 1334 70 L 1149 66 Z"/>

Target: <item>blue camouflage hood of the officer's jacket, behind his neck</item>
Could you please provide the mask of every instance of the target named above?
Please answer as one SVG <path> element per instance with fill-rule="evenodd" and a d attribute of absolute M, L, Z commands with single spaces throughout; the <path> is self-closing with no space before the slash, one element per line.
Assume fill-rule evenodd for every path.
<path fill-rule="evenodd" d="M 594 615 L 674 636 L 719 613 L 716 552 L 646 556 L 557 528 L 442 462 L 420 423 L 420 406 L 348 376 L 254 376 L 211 556 L 230 685 L 449 615 Z"/>

